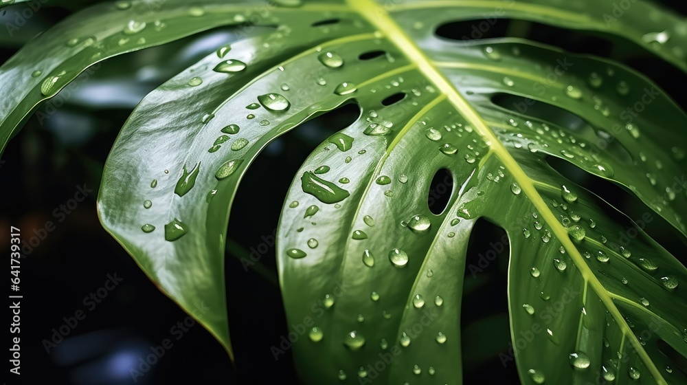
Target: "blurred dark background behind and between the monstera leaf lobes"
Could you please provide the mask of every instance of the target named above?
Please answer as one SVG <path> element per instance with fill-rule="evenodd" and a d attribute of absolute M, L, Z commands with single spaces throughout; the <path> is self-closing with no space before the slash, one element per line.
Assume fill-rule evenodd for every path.
<path fill-rule="evenodd" d="M 86 2 L 74 1 L 71 7 L 76 8 L 79 3 Z M 664 3 L 682 12 L 683 17 L 687 14 L 684 1 Z M 7 12 L 0 19 L 3 25 L 13 19 L 12 12 L 23 6 L 0 11 Z M 36 33 L 70 13 L 71 10 L 48 2 L 12 38 L 1 28 L 0 63 Z M 471 23 L 455 23 L 440 28 L 439 34 L 460 39 L 470 28 Z M 611 43 L 605 36 L 532 23 L 523 28 L 521 21 L 508 20 L 499 21 L 488 35 L 485 37 L 524 36 L 573 52 L 615 58 L 651 76 L 680 105 L 687 105 L 684 89 L 677 87 L 682 82 L 675 81 L 680 76 L 684 79 L 684 74 L 631 44 Z M 231 30 L 213 30 L 164 47 L 113 58 L 103 63 L 88 83 L 75 89 L 76 97 L 68 104 L 43 122 L 35 116 L 31 118 L 8 145 L 0 164 L 0 250 L 9 249 L 5 229 L 10 225 L 21 228 L 26 241 L 34 230 L 41 232 L 46 221 L 56 223 L 55 230 L 47 233 L 40 245 L 21 261 L 23 383 L 132 384 L 128 369 L 138 366 L 138 359 L 166 338 L 172 340 L 172 348 L 137 379 L 137 384 L 297 383 L 290 353 L 275 361 L 269 349 L 288 332 L 276 285 L 274 250 L 264 254 L 258 265 L 247 272 L 238 258 L 260 244 L 260 236 L 273 233 L 282 197 L 297 168 L 315 145 L 356 118 L 356 109 L 343 109 L 340 115 L 326 117 L 340 122 L 338 127 L 322 124 L 324 118 L 320 118 L 273 142 L 251 166 L 238 190 L 232 218 L 240 217 L 243 223 L 239 226 L 233 219 L 229 222 L 228 238 L 232 241 L 227 248 L 225 269 L 235 365 L 200 325 L 188 328 L 179 340 L 178 333 L 172 335 L 172 327 L 183 322 L 186 314 L 148 281 L 133 259 L 102 229 L 95 214 L 102 166 L 135 104 L 164 80 L 230 39 Z M 108 87 L 104 95 L 98 88 L 103 85 Z M 94 95 L 101 98 L 93 98 Z M 592 183 L 583 173 L 568 172 L 583 186 Z M 273 190 L 258 188 L 258 177 L 264 173 L 274 178 L 273 186 L 277 187 Z M 58 223 L 53 210 L 73 198 L 76 186 L 84 184 L 93 192 Z M 596 185 L 594 191 L 630 217 L 638 217 L 633 214 L 646 210 L 642 203 L 610 184 Z M 247 202 L 260 202 L 261 215 L 251 215 Z M 664 224 L 653 223 L 647 230 L 668 250 L 683 248 L 684 239 L 665 229 Z M 487 250 L 489 242 L 501 239 L 502 234 L 502 230 L 480 221 L 469 251 L 475 261 L 468 263 L 476 263 L 476 256 Z M 471 349 L 465 355 L 466 384 L 518 382 L 515 364 L 511 362 L 504 369 L 497 358 L 499 352 L 507 352 L 510 342 L 507 255 L 499 256 L 498 261 L 478 279 L 466 273 L 462 325 L 466 331 L 464 349 Z M 83 299 L 103 287 L 108 274 L 115 273 L 123 281 L 90 311 Z M 477 289 L 480 296 L 471 296 Z M 64 325 L 63 318 L 74 317 L 78 310 L 85 311 L 85 319 L 71 328 L 58 347 L 46 353 L 41 341 L 52 338 L 52 329 Z"/>

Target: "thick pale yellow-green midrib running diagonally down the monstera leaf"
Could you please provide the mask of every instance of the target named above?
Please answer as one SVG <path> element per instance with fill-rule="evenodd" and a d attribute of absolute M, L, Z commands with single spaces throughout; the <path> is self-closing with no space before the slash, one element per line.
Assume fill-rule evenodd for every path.
<path fill-rule="evenodd" d="M 410 37 L 405 31 L 403 31 L 403 29 L 401 29 L 398 23 L 396 23 L 396 21 L 389 16 L 385 8 L 376 3 L 374 0 L 346 0 L 346 3 L 348 3 L 348 5 L 356 10 L 362 17 L 368 20 L 370 24 L 374 25 L 374 27 L 376 27 L 379 32 L 384 34 L 391 43 L 396 45 L 399 52 L 403 53 L 412 61 L 418 63 L 418 71 L 425 75 L 427 79 L 437 87 L 437 89 L 442 91 L 442 93 L 447 96 L 449 102 L 453 104 L 453 107 L 460 112 L 469 123 L 473 125 L 475 131 L 482 136 L 486 144 L 490 147 L 490 151 L 493 151 L 495 155 L 499 157 L 506 169 L 513 175 L 515 181 L 517 181 L 520 185 L 522 192 L 526 195 L 526 197 L 528 197 L 532 205 L 540 212 L 542 219 L 550 225 L 552 232 L 554 232 L 556 238 L 559 239 L 563 245 L 563 248 L 565 248 L 565 250 L 568 252 L 576 267 L 578 267 L 578 270 L 585 279 L 585 282 L 589 283 L 589 285 L 592 286 L 592 289 L 594 289 L 594 292 L 598 294 L 602 303 L 618 323 L 618 327 L 622 331 L 623 335 L 629 336 L 627 340 L 630 341 L 632 347 L 646 365 L 646 368 L 649 369 L 649 372 L 651 372 L 651 375 L 659 384 L 667 385 L 667 382 L 662 377 L 660 371 L 658 371 L 656 368 L 653 360 L 649 358 L 649 355 L 644 350 L 644 347 L 642 347 L 640 342 L 635 338 L 631 329 L 627 325 L 627 322 L 625 322 L 624 318 L 622 317 L 622 314 L 620 314 L 620 311 L 613 303 L 611 296 L 609 296 L 609 292 L 607 292 L 600 281 L 598 281 L 592 270 L 589 269 L 587 263 L 585 263 L 582 254 L 580 254 L 580 252 L 577 250 L 574 243 L 570 241 L 570 238 L 567 235 L 567 230 L 565 230 L 565 228 L 563 228 L 563 226 L 559 223 L 554 213 L 543 201 L 536 188 L 534 188 L 534 184 L 532 184 L 530 178 L 526 175 L 522 168 L 520 168 L 510 153 L 508 153 L 508 150 L 506 150 L 504 145 L 498 140 L 493 131 L 489 129 L 484 120 L 480 118 L 480 115 L 477 114 L 477 111 L 475 111 L 475 109 L 468 104 L 468 102 L 460 95 L 460 93 L 458 93 L 453 84 L 451 84 L 449 80 L 441 72 L 439 72 L 435 65 L 433 65 L 433 63 L 429 60 L 427 55 L 425 55 L 425 53 L 420 50 L 415 42 L 410 39 Z"/>

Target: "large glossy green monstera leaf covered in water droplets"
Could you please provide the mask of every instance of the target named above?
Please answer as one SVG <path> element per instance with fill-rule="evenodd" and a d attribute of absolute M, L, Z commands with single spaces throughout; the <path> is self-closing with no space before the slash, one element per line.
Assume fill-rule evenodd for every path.
<path fill-rule="evenodd" d="M 493 18 L 601 34 L 687 69 L 684 19 L 646 1 L 117 1 L 3 65 L 0 137 L 4 148 L 98 61 L 236 25 L 239 39 L 133 111 L 98 199 L 106 230 L 228 351 L 223 257 L 240 180 L 275 137 L 354 104 L 359 118 L 295 175 L 278 229 L 304 382 L 460 383 L 466 250 L 484 218 L 508 234 L 523 384 L 687 383 L 673 362 L 687 357 L 687 270 L 547 161 L 623 186 L 649 206 L 643 221 L 684 236 L 687 115 L 621 63 L 435 33 L 456 21 L 484 32 Z M 441 170 L 450 199 L 433 212 Z"/>

